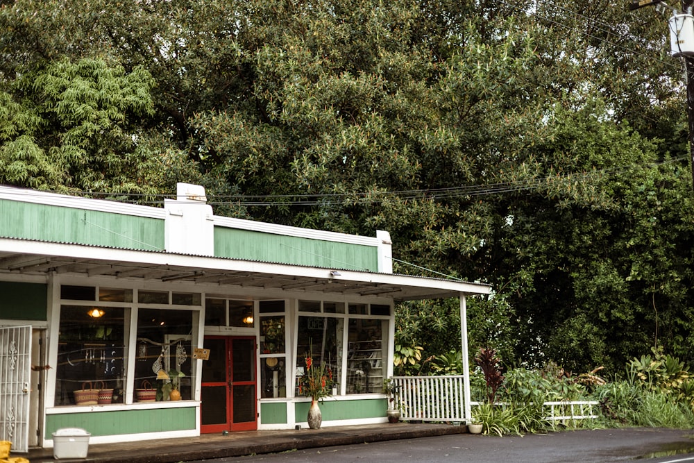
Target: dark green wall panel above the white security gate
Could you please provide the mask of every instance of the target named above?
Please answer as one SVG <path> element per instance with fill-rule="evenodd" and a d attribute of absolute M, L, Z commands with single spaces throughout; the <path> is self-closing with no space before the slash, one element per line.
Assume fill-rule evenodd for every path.
<path fill-rule="evenodd" d="M 0 281 L 0 320 L 46 321 L 47 301 L 47 285 Z"/>

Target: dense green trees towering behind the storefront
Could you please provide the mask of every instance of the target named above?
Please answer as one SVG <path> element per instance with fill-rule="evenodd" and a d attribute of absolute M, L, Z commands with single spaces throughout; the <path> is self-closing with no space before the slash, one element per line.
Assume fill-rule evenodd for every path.
<path fill-rule="evenodd" d="M 653 9 L 15 0 L 0 27 L 2 183 L 185 180 L 217 213 L 389 230 L 396 271 L 493 285 L 471 339 L 508 362 L 694 361 L 682 63 Z M 449 303 L 400 313 L 403 340 L 455 344 Z"/>

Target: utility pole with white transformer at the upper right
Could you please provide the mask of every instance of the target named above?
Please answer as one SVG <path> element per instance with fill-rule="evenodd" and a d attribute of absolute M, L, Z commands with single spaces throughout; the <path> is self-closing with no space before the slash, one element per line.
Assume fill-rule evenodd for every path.
<path fill-rule="evenodd" d="M 644 6 L 651 6 L 661 3 L 663 0 L 633 0 L 629 4 L 629 10 L 636 10 Z M 684 69 L 686 74 L 687 91 L 687 119 L 689 121 L 689 157 L 692 167 L 692 187 L 694 188 L 694 23 L 686 15 L 692 14 L 694 0 L 682 0 L 682 15 L 675 15 L 670 18 L 670 45 L 672 56 L 684 58 Z M 671 7 L 670 7 L 671 8 Z M 672 8 L 674 10 L 674 8 Z M 676 19 L 682 20 L 681 23 Z M 682 24 L 682 28 L 677 26 Z M 685 30 L 691 28 L 691 31 Z M 673 36 L 674 34 L 674 36 Z M 680 36 L 680 34 L 682 36 Z"/>

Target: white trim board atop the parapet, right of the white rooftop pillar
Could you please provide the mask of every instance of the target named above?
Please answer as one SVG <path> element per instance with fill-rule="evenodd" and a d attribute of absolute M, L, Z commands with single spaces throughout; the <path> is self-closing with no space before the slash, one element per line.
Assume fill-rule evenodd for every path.
<path fill-rule="evenodd" d="M 214 225 L 227 228 L 238 228 L 239 230 L 272 233 L 273 235 L 321 239 L 322 241 L 332 241 L 347 244 L 363 244 L 364 246 L 378 246 L 380 243 L 380 240 L 377 237 L 348 235 L 347 233 L 312 230 L 311 228 L 299 228 L 288 225 L 268 224 L 267 222 L 234 219 L 232 217 L 220 217 L 217 215 L 214 216 Z"/>

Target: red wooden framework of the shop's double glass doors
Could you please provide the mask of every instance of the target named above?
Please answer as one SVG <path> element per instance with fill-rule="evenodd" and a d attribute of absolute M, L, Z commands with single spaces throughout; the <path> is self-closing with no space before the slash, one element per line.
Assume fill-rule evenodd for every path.
<path fill-rule="evenodd" d="M 205 339 L 223 339 L 224 340 L 224 345 L 225 345 L 225 353 L 224 353 L 224 364 L 226 366 L 226 371 L 224 371 L 223 378 L 226 378 L 225 381 L 217 381 L 217 382 L 203 382 L 201 384 L 201 387 L 224 387 L 226 391 L 226 423 L 219 423 L 219 424 L 208 424 L 208 425 L 203 425 L 202 424 L 202 419 L 201 419 L 201 426 L 200 426 L 200 432 L 201 434 L 211 434 L 215 432 L 222 432 L 222 431 L 247 431 L 247 430 L 256 430 L 257 429 L 257 371 L 256 371 L 256 343 L 255 343 L 255 337 L 254 336 L 205 336 Z M 251 380 L 239 380 L 235 381 L 233 376 L 233 342 L 237 339 L 249 339 L 253 340 L 253 348 L 251 349 L 251 355 L 252 355 L 252 360 L 251 360 L 251 368 L 253 371 L 251 371 Z M 205 364 L 203 362 L 203 368 L 205 368 Z M 252 386 L 253 390 L 253 416 L 255 417 L 254 421 L 246 421 L 242 423 L 234 423 L 234 387 L 235 386 Z M 201 403 L 200 408 L 201 408 L 201 414 L 203 407 L 205 407 L 205 403 Z"/>

